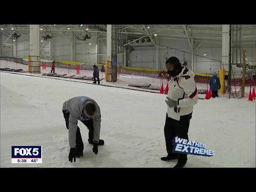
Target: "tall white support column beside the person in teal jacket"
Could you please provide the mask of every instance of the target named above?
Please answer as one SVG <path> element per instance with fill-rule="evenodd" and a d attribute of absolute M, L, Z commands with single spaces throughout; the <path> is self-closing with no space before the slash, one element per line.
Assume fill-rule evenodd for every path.
<path fill-rule="evenodd" d="M 225 72 L 228 72 L 230 64 L 230 25 L 222 25 L 222 64 Z M 224 74 L 225 77 L 226 73 Z M 228 85 L 228 80 L 224 80 L 224 93 L 226 91 L 226 86 Z"/>

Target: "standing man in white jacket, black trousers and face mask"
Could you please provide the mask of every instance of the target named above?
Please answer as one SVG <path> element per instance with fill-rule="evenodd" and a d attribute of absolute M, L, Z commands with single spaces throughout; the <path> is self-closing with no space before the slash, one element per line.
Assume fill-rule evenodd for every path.
<path fill-rule="evenodd" d="M 168 155 L 163 161 L 178 159 L 174 168 L 182 168 L 188 158 L 186 154 L 173 153 L 172 139 L 178 136 L 188 140 L 188 128 L 192 118 L 193 106 L 197 104 L 198 93 L 195 74 L 186 66 L 182 66 L 178 58 L 166 60 L 167 73 L 172 77 L 169 81 L 167 113 L 164 125 L 164 136 Z"/>

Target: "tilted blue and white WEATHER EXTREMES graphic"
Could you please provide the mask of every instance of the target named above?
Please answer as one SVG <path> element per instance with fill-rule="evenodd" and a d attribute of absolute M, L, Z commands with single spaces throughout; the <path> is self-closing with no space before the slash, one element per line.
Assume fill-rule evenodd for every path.
<path fill-rule="evenodd" d="M 189 141 L 186 139 L 175 137 L 172 139 L 173 153 L 192 154 L 201 156 L 214 156 L 215 151 L 205 148 L 205 144 Z"/>

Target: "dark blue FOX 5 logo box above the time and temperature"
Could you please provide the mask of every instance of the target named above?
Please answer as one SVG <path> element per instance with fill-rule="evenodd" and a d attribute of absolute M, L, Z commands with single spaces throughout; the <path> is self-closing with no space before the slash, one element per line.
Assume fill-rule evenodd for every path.
<path fill-rule="evenodd" d="M 42 158 L 42 147 L 12 146 L 12 158 Z"/>

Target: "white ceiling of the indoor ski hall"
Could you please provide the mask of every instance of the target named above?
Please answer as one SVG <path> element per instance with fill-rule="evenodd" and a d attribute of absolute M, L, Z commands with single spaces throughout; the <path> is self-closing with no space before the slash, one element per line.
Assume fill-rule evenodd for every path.
<path fill-rule="evenodd" d="M 90 27 L 88 27 L 90 26 Z M 96 29 L 96 26 L 98 29 Z M 149 28 L 147 27 L 149 26 Z M 239 27 L 239 26 L 238 26 Z M 29 25 L 3 25 L 0 24 L 0 30 L 6 35 L 10 35 L 14 30 L 18 30 L 22 35 L 29 34 Z M 94 36 L 95 32 L 98 34 L 106 35 L 106 25 L 92 25 L 83 24 L 83 26 L 76 24 L 67 25 L 40 25 L 40 33 L 42 34 L 46 30 L 52 33 L 52 36 L 69 36 L 73 33 L 84 33 L 88 32 L 91 36 Z M 70 30 L 68 30 L 70 28 Z M 86 30 L 89 28 L 89 30 Z M 256 41 L 256 25 L 241 25 L 242 28 L 242 42 L 244 44 L 255 44 Z M 194 38 L 196 41 L 209 41 L 209 42 L 221 42 L 222 40 L 222 25 L 118 25 L 118 29 L 122 29 L 124 34 L 128 35 L 128 39 L 136 39 L 145 35 L 157 34 L 159 38 L 177 39 L 184 40 Z M 186 29 L 186 30 L 185 30 Z M 153 36 L 154 37 L 154 36 Z"/>

